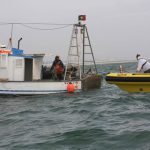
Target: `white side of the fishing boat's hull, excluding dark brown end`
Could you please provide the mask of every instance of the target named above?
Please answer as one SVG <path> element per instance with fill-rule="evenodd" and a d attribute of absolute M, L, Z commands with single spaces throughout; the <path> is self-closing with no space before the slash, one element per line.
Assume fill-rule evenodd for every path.
<path fill-rule="evenodd" d="M 69 81 L 0 82 L 0 95 L 42 95 L 67 92 Z M 81 90 L 81 81 L 72 81 L 75 92 Z"/>

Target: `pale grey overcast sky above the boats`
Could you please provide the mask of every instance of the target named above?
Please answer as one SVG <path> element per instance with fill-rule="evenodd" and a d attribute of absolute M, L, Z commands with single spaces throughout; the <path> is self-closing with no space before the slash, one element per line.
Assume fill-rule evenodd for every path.
<path fill-rule="evenodd" d="M 137 53 L 150 58 L 150 0 L 0 0 L 0 4 L 0 22 L 73 24 L 79 14 L 87 15 L 96 60 L 135 59 Z M 66 59 L 71 30 L 39 31 L 15 25 L 13 46 L 22 37 L 26 53 L 59 54 Z M 11 25 L 1 25 L 0 43 L 7 45 L 10 34 Z"/>

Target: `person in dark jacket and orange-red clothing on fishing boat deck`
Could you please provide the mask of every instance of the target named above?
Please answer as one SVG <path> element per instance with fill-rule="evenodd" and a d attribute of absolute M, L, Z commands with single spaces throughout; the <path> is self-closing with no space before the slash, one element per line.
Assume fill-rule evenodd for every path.
<path fill-rule="evenodd" d="M 63 62 L 60 60 L 59 56 L 56 56 L 51 66 L 50 72 L 53 72 L 56 80 L 62 80 L 64 68 L 65 67 Z"/>

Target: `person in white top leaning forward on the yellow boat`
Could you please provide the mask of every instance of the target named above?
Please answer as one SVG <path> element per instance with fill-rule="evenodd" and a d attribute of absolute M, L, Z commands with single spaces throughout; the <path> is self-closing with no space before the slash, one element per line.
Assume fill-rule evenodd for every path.
<path fill-rule="evenodd" d="M 137 72 L 150 73 L 150 62 L 140 56 L 140 54 L 136 55 L 138 61 Z"/>

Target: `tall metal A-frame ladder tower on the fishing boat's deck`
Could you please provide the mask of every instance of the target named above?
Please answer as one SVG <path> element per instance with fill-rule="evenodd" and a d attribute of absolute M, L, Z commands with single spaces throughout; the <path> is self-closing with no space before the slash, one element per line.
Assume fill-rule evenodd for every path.
<path fill-rule="evenodd" d="M 69 74 L 71 67 L 76 69 L 76 78 L 71 78 L 71 73 Z M 81 79 L 88 72 L 97 73 L 97 68 L 87 27 L 79 22 L 73 25 L 64 80 Z"/>

